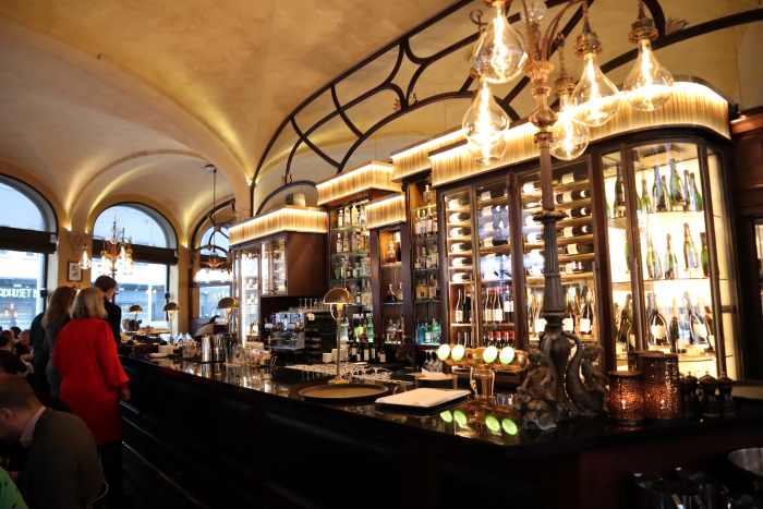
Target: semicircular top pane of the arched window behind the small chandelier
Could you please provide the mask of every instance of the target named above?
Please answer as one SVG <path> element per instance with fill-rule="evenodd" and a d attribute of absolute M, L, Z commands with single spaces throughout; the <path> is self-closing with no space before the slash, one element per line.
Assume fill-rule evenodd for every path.
<path fill-rule="evenodd" d="M 119 232 L 124 228 L 124 237 L 133 244 L 171 249 L 177 246 L 172 226 L 160 214 L 148 207 L 126 204 L 107 208 L 96 219 L 93 237 L 111 238 L 114 222 Z"/>

